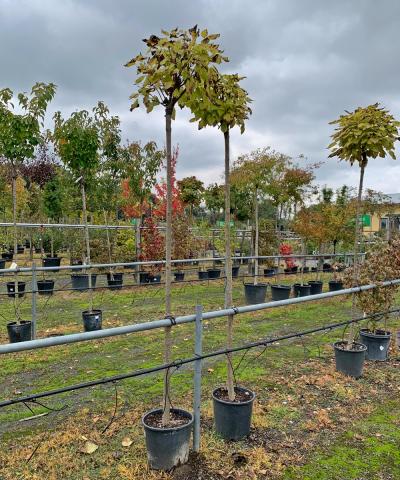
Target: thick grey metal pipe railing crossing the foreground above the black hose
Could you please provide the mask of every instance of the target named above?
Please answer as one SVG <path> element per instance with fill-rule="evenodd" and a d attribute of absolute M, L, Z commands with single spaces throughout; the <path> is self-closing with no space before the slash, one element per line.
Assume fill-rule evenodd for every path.
<path fill-rule="evenodd" d="M 350 293 L 358 293 L 362 291 L 372 290 L 379 287 L 387 287 L 393 285 L 400 285 L 400 279 L 389 280 L 382 282 L 379 285 L 370 284 L 359 287 L 346 288 L 334 292 L 319 293 L 310 295 L 308 297 L 290 298 L 288 300 L 279 300 L 275 302 L 259 303 L 256 305 L 245 305 L 242 307 L 225 308 L 222 310 L 215 310 L 203 313 L 203 320 L 211 320 L 214 318 L 226 317 L 228 315 L 237 315 L 240 313 L 250 313 L 259 310 L 266 310 L 269 308 L 283 307 L 288 305 L 295 305 L 298 303 L 310 302 L 314 300 L 323 300 L 339 295 L 348 295 Z M 48 348 L 57 345 L 67 345 L 71 343 L 83 342 L 88 340 L 97 340 L 101 338 L 114 337 L 118 335 L 125 335 L 128 333 L 143 332 L 146 330 L 154 330 L 156 328 L 170 327 L 172 325 L 180 325 L 184 323 L 191 323 L 196 320 L 196 315 L 184 315 L 176 318 L 164 318 L 161 320 L 154 320 L 151 322 L 138 323 L 135 325 L 126 325 L 123 327 L 114 327 L 104 330 L 96 330 L 93 332 L 74 333 L 70 335 L 63 335 L 50 338 L 42 338 L 38 340 L 29 340 L 27 342 L 10 343 L 0 345 L 0 354 L 22 352 L 26 350 L 34 350 L 38 348 Z"/>

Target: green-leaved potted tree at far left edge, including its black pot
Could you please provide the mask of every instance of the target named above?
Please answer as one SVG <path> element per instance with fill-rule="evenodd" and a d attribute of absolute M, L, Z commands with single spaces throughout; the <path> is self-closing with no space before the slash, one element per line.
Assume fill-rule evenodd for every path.
<path fill-rule="evenodd" d="M 28 158 L 33 158 L 35 148 L 40 144 L 41 127 L 48 103 L 53 99 L 56 86 L 52 83 L 36 83 L 30 96 L 18 94 L 18 104 L 22 113 L 16 113 L 13 104 L 13 92 L 9 88 L 0 90 L 0 157 L 9 167 L 12 183 L 12 204 L 14 224 L 13 252 L 18 252 L 17 231 L 17 178 L 21 165 Z M 30 321 L 20 321 L 17 296 L 22 296 L 25 283 L 18 282 L 17 273 L 12 285 L 7 285 L 9 296 L 14 298 L 16 321 L 7 325 L 11 342 L 30 340 L 32 325 Z"/>

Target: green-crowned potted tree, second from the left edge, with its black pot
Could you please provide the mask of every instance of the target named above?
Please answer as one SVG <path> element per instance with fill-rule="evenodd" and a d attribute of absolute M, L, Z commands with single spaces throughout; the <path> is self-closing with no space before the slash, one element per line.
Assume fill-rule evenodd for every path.
<path fill-rule="evenodd" d="M 82 199 L 83 230 L 85 236 L 86 258 L 85 263 L 91 263 L 90 238 L 86 206 L 86 188 L 93 181 L 99 168 L 101 155 L 101 130 L 99 117 L 107 115 L 104 104 L 101 102 L 93 108 L 93 115 L 86 110 L 71 114 L 63 119 L 61 112 L 54 115 L 53 138 L 57 153 L 63 164 L 73 174 L 75 181 L 80 185 Z M 102 311 L 93 307 L 93 289 L 96 274 L 72 274 L 72 281 L 78 289 L 89 289 L 89 310 L 82 312 L 85 331 L 101 329 Z"/>

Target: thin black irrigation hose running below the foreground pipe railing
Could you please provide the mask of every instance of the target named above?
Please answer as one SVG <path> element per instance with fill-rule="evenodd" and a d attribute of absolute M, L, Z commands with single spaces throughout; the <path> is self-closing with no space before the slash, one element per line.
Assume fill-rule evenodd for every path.
<path fill-rule="evenodd" d="M 126 380 L 128 378 L 140 377 L 142 375 L 148 375 L 150 373 L 156 373 L 156 372 L 160 372 L 162 370 L 167 370 L 167 369 L 170 369 L 170 368 L 177 368 L 178 369 L 182 365 L 186 365 L 188 363 L 193 363 L 196 360 L 205 360 L 207 358 L 217 357 L 217 356 L 220 356 L 220 355 L 226 355 L 228 353 L 240 352 L 240 351 L 243 351 L 243 350 L 249 350 L 251 348 L 271 345 L 273 343 L 281 342 L 283 340 L 290 340 L 292 338 L 301 338 L 301 337 L 304 337 L 306 335 L 311 335 L 313 333 L 334 330 L 336 328 L 347 326 L 347 325 L 350 325 L 352 323 L 358 323 L 358 322 L 361 322 L 363 320 L 368 320 L 369 318 L 374 318 L 374 317 L 377 317 L 377 316 L 382 315 L 382 314 L 397 313 L 397 312 L 400 312 L 400 308 L 395 308 L 395 309 L 391 309 L 391 310 L 386 310 L 385 312 L 378 312 L 378 313 L 374 313 L 374 314 L 371 314 L 371 315 L 358 317 L 358 318 L 355 318 L 353 320 L 347 320 L 345 322 L 332 323 L 330 325 L 326 325 L 326 326 L 323 326 L 323 327 L 317 327 L 317 328 L 313 328 L 313 329 L 310 329 L 310 330 L 305 330 L 303 332 L 290 333 L 290 334 L 287 334 L 287 335 L 282 335 L 281 337 L 268 338 L 268 339 L 260 340 L 258 342 L 247 343 L 246 345 L 242 345 L 240 347 L 233 347 L 233 348 L 226 348 L 226 349 L 223 349 L 223 350 L 217 350 L 215 352 L 205 353 L 203 355 L 189 357 L 189 358 L 186 358 L 186 359 L 181 359 L 181 360 L 177 360 L 177 361 L 174 361 L 174 362 L 159 365 L 158 367 L 145 368 L 145 369 L 136 370 L 136 371 L 130 372 L 130 373 L 122 373 L 120 375 L 114 375 L 112 377 L 102 378 L 100 380 L 92 380 L 90 382 L 83 382 L 83 383 L 78 383 L 76 385 L 70 385 L 68 387 L 57 388 L 57 389 L 54 389 L 54 390 L 48 390 L 47 392 L 34 393 L 32 395 L 27 395 L 27 396 L 24 396 L 24 397 L 13 398 L 11 400 L 4 400 L 4 401 L 0 402 L 0 408 L 7 407 L 7 406 L 10 406 L 10 405 L 16 405 L 18 403 L 35 402 L 38 398 L 45 398 L 45 397 L 50 397 L 50 396 L 53 396 L 53 395 L 60 395 L 62 393 L 72 392 L 72 391 L 75 391 L 75 390 L 81 390 L 83 388 L 95 387 L 95 386 L 98 386 L 98 385 L 105 385 L 107 383 L 118 382 L 120 380 Z"/>

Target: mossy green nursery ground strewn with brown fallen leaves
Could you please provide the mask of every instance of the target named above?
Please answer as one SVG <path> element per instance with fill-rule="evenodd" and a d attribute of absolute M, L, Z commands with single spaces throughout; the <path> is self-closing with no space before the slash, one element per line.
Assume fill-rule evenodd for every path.
<path fill-rule="evenodd" d="M 331 274 L 323 274 L 325 284 Z M 190 278 L 190 277 L 189 277 Z M 194 278 L 194 276 L 193 276 Z M 311 278 L 307 276 L 306 278 Z M 61 279 L 60 279 L 61 281 Z M 281 283 L 295 283 L 287 276 Z M 268 294 L 269 295 L 269 294 Z M 242 280 L 234 282 L 234 304 L 243 305 Z M 223 280 L 173 287 L 175 315 L 223 305 Z M 94 305 L 103 309 L 103 328 L 155 320 L 163 315 L 162 285 L 99 289 Z M 29 295 L 21 299 L 28 318 Z M 38 299 L 38 337 L 82 330 L 88 294 L 56 292 Z M 280 307 L 235 317 L 234 342 L 298 332 L 347 320 L 343 297 Z M 13 312 L 2 297 L 1 342 Z M 392 316 L 395 332 L 400 320 Z M 204 322 L 203 350 L 225 345 L 224 319 Z M 175 326 L 174 359 L 194 349 L 194 325 Z M 249 438 L 223 442 L 213 432 L 211 392 L 225 381 L 225 358 L 203 363 L 201 453 L 170 473 L 147 467 L 142 414 L 161 403 L 162 374 L 49 397 L 40 404 L 0 411 L 0 478 L 14 479 L 309 479 L 394 480 L 400 478 L 400 354 L 366 362 L 359 380 L 335 372 L 331 344 L 343 329 L 234 355 L 236 381 L 257 398 Z M 153 330 L 94 342 L 6 355 L 1 358 L 2 399 L 162 363 L 163 332 Z M 172 403 L 191 410 L 192 367 L 174 372 Z M 49 410 L 49 407 L 51 410 Z M 42 415 L 43 414 L 43 415 Z M 30 418 L 34 417 L 36 418 Z M 88 448 L 92 445 L 92 448 Z M 90 453 L 89 453 L 90 452 Z"/>

